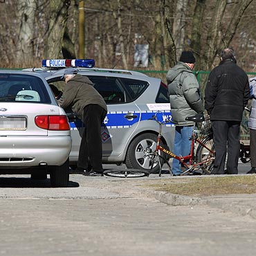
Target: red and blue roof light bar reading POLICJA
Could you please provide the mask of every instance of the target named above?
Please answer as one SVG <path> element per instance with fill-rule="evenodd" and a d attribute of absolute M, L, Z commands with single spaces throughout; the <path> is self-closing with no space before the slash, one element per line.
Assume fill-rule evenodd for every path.
<path fill-rule="evenodd" d="M 67 67 L 79 67 L 79 68 L 93 68 L 95 65 L 92 59 L 75 59 L 75 60 L 42 60 L 43 67 L 51 68 L 67 68 Z"/>

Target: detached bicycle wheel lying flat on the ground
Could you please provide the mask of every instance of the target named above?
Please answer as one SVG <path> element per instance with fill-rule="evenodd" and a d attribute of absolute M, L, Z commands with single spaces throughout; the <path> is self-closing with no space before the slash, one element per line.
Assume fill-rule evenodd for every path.
<path fill-rule="evenodd" d="M 109 177 L 118 177 L 118 178 L 140 178 L 149 176 L 149 172 L 145 170 L 105 170 L 104 175 Z"/>

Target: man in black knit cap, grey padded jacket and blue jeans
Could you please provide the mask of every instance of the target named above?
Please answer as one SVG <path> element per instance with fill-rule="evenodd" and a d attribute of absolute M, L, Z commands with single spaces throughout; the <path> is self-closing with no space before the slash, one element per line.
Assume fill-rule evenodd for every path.
<path fill-rule="evenodd" d="M 188 116 L 203 113 L 203 102 L 192 69 L 196 62 L 191 51 L 183 51 L 179 62 L 167 73 L 168 93 L 172 110 L 172 122 L 175 125 L 174 154 L 188 156 L 193 129 L 193 122 L 185 120 Z M 181 163 L 173 159 L 172 173 L 179 176 L 182 173 Z"/>

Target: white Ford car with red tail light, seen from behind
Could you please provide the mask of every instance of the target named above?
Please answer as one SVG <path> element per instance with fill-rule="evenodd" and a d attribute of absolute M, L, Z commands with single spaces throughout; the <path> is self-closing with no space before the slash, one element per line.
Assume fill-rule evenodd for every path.
<path fill-rule="evenodd" d="M 68 185 L 71 131 L 46 80 L 37 73 L 0 71 L 0 174 L 31 174 Z"/>

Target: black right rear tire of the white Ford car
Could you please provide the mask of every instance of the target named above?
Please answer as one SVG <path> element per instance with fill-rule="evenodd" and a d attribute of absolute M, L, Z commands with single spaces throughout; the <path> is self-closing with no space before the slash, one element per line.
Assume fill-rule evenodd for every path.
<path fill-rule="evenodd" d="M 69 181 L 69 161 L 60 166 L 51 166 L 50 179 L 53 188 L 66 188 Z"/>

